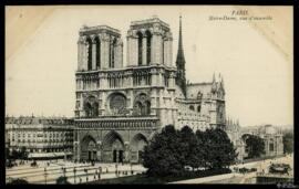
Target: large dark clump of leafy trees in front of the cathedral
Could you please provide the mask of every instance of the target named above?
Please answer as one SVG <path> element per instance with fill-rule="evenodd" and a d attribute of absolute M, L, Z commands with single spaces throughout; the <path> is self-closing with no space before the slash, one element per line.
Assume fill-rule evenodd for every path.
<path fill-rule="evenodd" d="M 197 130 L 168 125 L 156 134 L 143 154 L 143 166 L 151 176 L 183 176 L 186 166 L 224 170 L 235 161 L 234 145 L 223 129 Z"/>

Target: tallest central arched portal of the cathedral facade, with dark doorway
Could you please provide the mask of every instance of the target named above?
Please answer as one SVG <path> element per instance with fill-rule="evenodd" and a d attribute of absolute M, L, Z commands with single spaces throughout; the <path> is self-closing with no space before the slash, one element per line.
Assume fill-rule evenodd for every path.
<path fill-rule="evenodd" d="M 103 140 L 103 160 L 107 162 L 124 161 L 124 141 L 120 134 L 112 130 Z"/>

